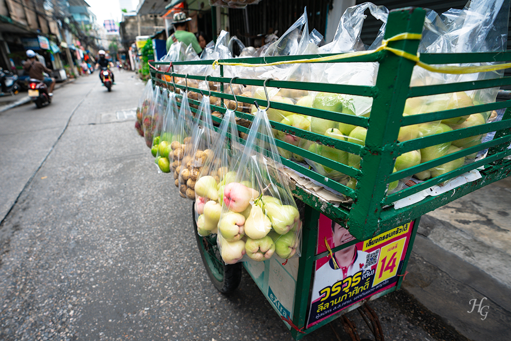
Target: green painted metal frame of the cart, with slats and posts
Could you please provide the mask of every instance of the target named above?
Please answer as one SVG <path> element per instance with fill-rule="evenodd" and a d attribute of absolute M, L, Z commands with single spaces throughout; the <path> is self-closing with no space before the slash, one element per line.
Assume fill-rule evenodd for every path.
<path fill-rule="evenodd" d="M 420 8 L 405 8 L 401 10 L 391 11 L 388 18 L 387 30 L 385 38 L 392 37 L 396 34 L 409 32 L 421 33 L 424 22 L 425 11 Z M 417 40 L 401 40 L 389 43 L 389 47 L 406 51 L 415 55 L 419 41 Z M 220 62 L 247 62 L 253 64 L 270 63 L 282 60 L 298 60 L 310 59 L 319 57 L 312 56 L 288 56 L 288 57 L 268 57 L 268 58 L 242 58 L 236 60 L 221 60 Z M 421 61 L 429 64 L 446 64 L 446 63 L 476 63 L 476 62 L 503 62 L 511 60 L 511 52 L 505 53 L 464 53 L 464 54 L 422 54 Z M 314 162 L 331 167 L 335 170 L 343 172 L 347 175 L 353 176 L 357 179 L 357 187 L 355 190 L 348 188 L 337 181 L 328 179 L 308 167 L 291 162 L 283 157 L 281 161 L 285 166 L 288 166 L 295 171 L 302 173 L 310 178 L 318 181 L 326 187 L 330 187 L 346 196 L 353 198 L 351 206 L 341 205 L 340 207 L 334 206 L 329 202 L 325 202 L 317 196 L 301 189 L 299 187 L 292 188 L 293 194 L 300 200 L 304 201 L 306 206 L 305 221 L 303 227 L 303 246 L 302 254 L 298 267 L 298 281 L 295 290 L 295 305 L 293 314 L 293 323 L 302 328 L 306 324 L 310 290 L 313 279 L 314 262 L 323 255 L 316 254 L 316 240 L 317 240 L 317 221 L 319 213 L 323 213 L 329 218 L 344 224 L 351 234 L 358 240 L 366 240 L 370 237 L 376 236 L 380 233 L 402 225 L 408 221 L 414 221 L 414 228 L 412 237 L 410 239 L 408 249 L 405 256 L 401 275 L 405 274 L 406 265 L 410 257 L 413 241 L 415 238 L 416 230 L 419 224 L 420 217 L 434 209 L 444 206 L 448 202 L 455 200 L 463 195 L 475 191 L 483 186 L 486 186 L 494 181 L 507 177 L 511 173 L 511 160 L 505 160 L 504 157 L 511 154 L 511 150 L 507 149 L 511 142 L 511 110 L 507 109 L 502 121 L 488 123 L 477 127 L 459 129 L 443 134 L 435 135 L 434 138 L 421 138 L 405 142 L 398 142 L 397 137 L 399 128 L 412 124 L 419 124 L 445 118 L 453 118 L 463 115 L 470 115 L 472 113 L 490 111 L 501 108 L 508 108 L 511 106 L 511 101 L 504 101 L 498 103 L 489 103 L 483 105 L 475 105 L 473 107 L 445 110 L 433 112 L 428 114 L 414 115 L 403 117 L 402 112 L 404 109 L 405 101 L 407 98 L 428 96 L 441 93 L 452 93 L 471 89 L 481 89 L 490 87 L 499 87 L 502 85 L 511 85 L 511 77 L 496 78 L 490 80 L 480 80 L 474 82 L 460 82 L 455 84 L 445 85 L 429 85 L 410 87 L 412 70 L 414 62 L 399 57 L 387 51 L 380 51 L 375 54 L 350 57 L 343 59 L 342 62 L 379 62 L 380 68 L 375 86 L 354 86 L 354 85 L 340 85 L 340 84 L 322 84 L 312 82 L 290 82 L 290 81 L 277 81 L 269 80 L 268 87 L 284 87 L 290 89 L 313 90 L 318 92 L 330 92 L 351 94 L 356 96 L 366 96 L 373 98 L 373 110 L 371 110 L 370 118 L 356 117 L 346 115 L 343 113 L 330 112 L 320 109 L 306 108 L 294 106 L 284 103 L 271 102 L 271 106 L 276 109 L 302 113 L 304 115 L 328 118 L 339 122 L 353 124 L 367 128 L 367 137 L 365 146 L 359 146 L 350 142 L 340 141 L 325 137 L 323 135 L 315 134 L 310 131 L 305 131 L 278 122 L 271 121 L 272 127 L 288 133 L 294 134 L 297 137 L 304 138 L 310 141 L 328 145 L 333 148 L 344 150 L 350 153 L 362 156 L 361 169 L 355 169 L 346 165 L 336 163 L 328 160 L 322 156 L 313 154 L 305 149 L 295 147 L 285 142 L 276 141 L 277 147 L 289 150 L 291 152 L 300 154 L 304 157 L 310 158 Z M 211 60 L 198 60 L 188 62 L 173 62 L 172 71 L 151 71 L 151 76 L 155 82 L 166 84 L 160 77 L 162 75 L 188 77 L 203 81 L 202 76 L 183 75 L 174 73 L 174 65 L 211 65 Z M 341 61 L 339 61 L 341 63 Z M 153 62 L 154 66 L 169 65 L 168 63 Z M 340 64 L 341 65 L 341 64 Z M 217 96 L 222 101 L 222 106 L 212 106 L 212 110 L 225 112 L 223 108 L 223 100 L 234 100 L 233 95 L 223 92 L 223 84 L 232 81 L 233 84 L 245 84 L 252 86 L 263 86 L 264 80 L 259 79 L 235 79 L 231 80 L 224 77 L 224 66 L 220 65 L 220 77 L 208 77 L 208 81 L 221 83 L 220 92 L 212 92 L 212 96 Z M 169 83 L 167 83 L 167 86 Z M 176 85 L 178 88 L 184 89 L 184 85 Z M 200 89 L 189 87 L 194 92 L 199 92 Z M 182 96 L 180 97 L 182 98 Z M 259 100 L 249 97 L 237 96 L 239 102 L 253 103 L 265 106 L 265 100 Z M 190 100 L 191 104 L 200 104 L 198 101 Z M 195 109 L 192 109 L 196 111 Z M 237 116 L 241 119 L 252 120 L 252 116 L 246 113 L 237 112 Z M 215 122 L 220 122 L 220 119 L 214 117 Z M 248 132 L 247 128 L 238 126 L 242 132 Z M 401 153 L 406 151 L 424 148 L 427 146 L 442 143 L 442 141 L 454 141 L 460 138 L 478 135 L 496 131 L 494 140 L 481 144 L 479 146 L 458 151 L 449 154 L 437 160 L 415 166 L 400 172 L 392 173 L 394 160 Z M 421 185 L 409 187 L 397 193 L 386 194 L 386 187 L 388 183 L 394 180 L 412 175 L 420 172 L 421 170 L 429 169 L 446 162 L 455 160 L 462 155 L 468 155 L 473 152 L 489 148 L 486 158 L 483 158 L 475 163 L 468 164 L 462 168 L 446 173 L 442 176 L 429 179 Z M 460 175 L 469 170 L 481 168 L 482 178 L 468 183 L 466 185 L 451 190 L 447 193 L 427 197 L 419 203 L 411 207 L 401 209 L 394 209 L 392 202 L 405 198 L 411 194 L 417 193 L 425 188 L 433 185 L 443 183 L 454 176 Z M 347 245 L 344 245 L 347 246 Z M 380 297 L 388 292 L 399 289 L 403 277 L 398 281 L 396 287 L 374 295 L 372 298 Z M 355 308 L 356 305 L 342 310 L 339 314 L 331 316 L 329 319 L 305 330 L 306 334 L 311 331 L 330 323 L 336 319 L 340 314 Z M 291 334 L 295 339 L 300 339 L 305 334 L 291 329 Z"/>

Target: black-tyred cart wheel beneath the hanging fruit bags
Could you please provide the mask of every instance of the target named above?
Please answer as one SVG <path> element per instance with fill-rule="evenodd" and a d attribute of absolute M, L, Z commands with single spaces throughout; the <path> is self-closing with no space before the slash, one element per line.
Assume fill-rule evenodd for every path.
<path fill-rule="evenodd" d="M 241 282 L 241 263 L 225 264 L 217 246 L 217 235 L 201 237 L 197 233 L 195 221 L 195 202 L 192 204 L 192 220 L 197 246 L 207 275 L 218 291 L 224 294 L 233 292 Z"/>

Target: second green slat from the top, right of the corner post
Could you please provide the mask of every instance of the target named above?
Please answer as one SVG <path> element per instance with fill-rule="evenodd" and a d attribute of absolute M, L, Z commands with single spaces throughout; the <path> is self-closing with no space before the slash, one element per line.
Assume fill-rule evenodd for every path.
<path fill-rule="evenodd" d="M 476 80 L 470 82 L 456 82 L 448 84 L 423 85 L 410 87 L 408 97 L 421 97 L 438 94 L 450 94 L 460 91 L 484 89 L 511 85 L 511 77 Z"/>

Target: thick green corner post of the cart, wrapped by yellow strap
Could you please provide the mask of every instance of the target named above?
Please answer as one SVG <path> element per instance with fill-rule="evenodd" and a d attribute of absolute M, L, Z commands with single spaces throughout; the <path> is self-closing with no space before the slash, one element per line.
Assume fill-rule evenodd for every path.
<path fill-rule="evenodd" d="M 388 16 L 385 39 L 409 32 L 421 33 L 425 11 L 406 8 L 392 11 Z M 389 47 L 411 53 L 417 52 L 419 40 L 389 42 Z M 399 132 L 399 118 L 402 115 L 408 84 L 414 62 L 388 53 L 380 61 L 376 80 L 378 95 L 373 101 L 365 148 L 360 163 L 362 175 L 356 185 L 358 200 L 351 208 L 348 225 L 352 235 L 365 240 L 380 231 L 381 201 L 387 190 L 386 181 L 393 168 L 393 147 Z M 384 147 L 382 147 L 384 146 Z M 383 149 L 383 150 L 382 150 Z"/>

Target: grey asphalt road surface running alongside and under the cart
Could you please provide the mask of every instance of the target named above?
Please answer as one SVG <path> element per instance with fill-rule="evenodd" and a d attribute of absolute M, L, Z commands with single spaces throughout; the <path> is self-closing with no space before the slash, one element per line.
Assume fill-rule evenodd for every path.
<path fill-rule="evenodd" d="M 229 297 L 211 284 L 192 203 L 134 129 L 144 83 L 115 80 L 0 113 L 0 340 L 291 340 L 246 272 Z M 386 340 L 464 339 L 404 290 L 370 305 Z M 303 339 L 349 338 L 338 319 Z"/>

